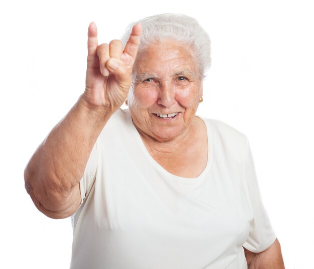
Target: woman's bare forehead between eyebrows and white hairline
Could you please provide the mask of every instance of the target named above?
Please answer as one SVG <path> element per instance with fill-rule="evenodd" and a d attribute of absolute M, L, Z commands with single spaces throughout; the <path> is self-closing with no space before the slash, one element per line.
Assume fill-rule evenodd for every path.
<path fill-rule="evenodd" d="M 165 72 L 197 71 L 193 49 L 180 41 L 166 39 L 150 43 L 142 51 L 134 63 L 137 73 L 150 72 L 165 74 Z"/>

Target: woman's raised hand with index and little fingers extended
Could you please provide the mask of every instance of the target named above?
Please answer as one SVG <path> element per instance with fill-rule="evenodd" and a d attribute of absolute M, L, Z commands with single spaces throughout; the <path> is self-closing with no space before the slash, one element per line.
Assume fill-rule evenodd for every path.
<path fill-rule="evenodd" d="M 140 42 L 141 25 L 135 24 L 124 51 L 120 40 L 98 45 L 94 22 L 88 27 L 86 88 L 83 98 L 93 107 L 112 112 L 124 102 L 130 88 L 131 72 Z"/>

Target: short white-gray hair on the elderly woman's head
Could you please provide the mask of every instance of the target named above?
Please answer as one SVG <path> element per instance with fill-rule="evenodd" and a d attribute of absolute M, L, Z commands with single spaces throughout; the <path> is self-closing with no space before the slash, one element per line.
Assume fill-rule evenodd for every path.
<path fill-rule="evenodd" d="M 200 78 L 206 76 L 206 71 L 211 65 L 211 41 L 207 32 L 195 18 L 175 13 L 158 14 L 142 18 L 137 22 L 131 23 L 126 28 L 121 38 L 123 47 L 127 42 L 133 25 L 136 23 L 140 23 L 143 28 L 138 55 L 143 53 L 150 43 L 174 39 L 194 48 L 199 76 Z"/>

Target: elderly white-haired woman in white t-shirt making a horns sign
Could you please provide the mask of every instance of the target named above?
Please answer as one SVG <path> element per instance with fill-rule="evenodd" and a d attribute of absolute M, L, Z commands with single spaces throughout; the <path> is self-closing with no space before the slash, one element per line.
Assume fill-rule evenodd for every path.
<path fill-rule="evenodd" d="M 195 115 L 207 33 L 163 14 L 125 36 L 89 25 L 85 91 L 25 170 L 40 211 L 73 215 L 71 268 L 283 268 L 246 137 Z"/>

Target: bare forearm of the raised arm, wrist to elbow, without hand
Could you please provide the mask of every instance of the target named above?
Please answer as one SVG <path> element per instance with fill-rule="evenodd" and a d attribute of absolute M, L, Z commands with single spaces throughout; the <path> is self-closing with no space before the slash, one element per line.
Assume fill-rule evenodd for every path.
<path fill-rule="evenodd" d="M 25 169 L 25 187 L 42 212 L 58 217 L 57 212 L 67 211 L 78 195 L 74 188 L 92 147 L 111 114 L 110 109 L 89 106 L 81 96 L 37 148 Z"/>

